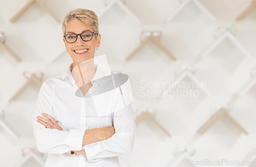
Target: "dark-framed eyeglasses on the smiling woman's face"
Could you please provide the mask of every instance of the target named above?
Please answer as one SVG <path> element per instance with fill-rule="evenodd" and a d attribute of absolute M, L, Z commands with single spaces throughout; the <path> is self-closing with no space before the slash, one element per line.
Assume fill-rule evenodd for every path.
<path fill-rule="evenodd" d="M 78 35 L 81 37 L 83 41 L 89 41 L 93 38 L 93 34 L 98 34 L 98 33 L 87 31 L 81 34 L 67 34 L 67 35 L 64 35 L 63 37 L 66 39 L 67 42 L 74 43 L 77 40 Z"/>

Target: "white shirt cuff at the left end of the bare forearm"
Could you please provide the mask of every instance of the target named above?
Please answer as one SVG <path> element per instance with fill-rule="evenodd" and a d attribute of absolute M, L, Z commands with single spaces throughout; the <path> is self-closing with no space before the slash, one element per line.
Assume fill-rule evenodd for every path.
<path fill-rule="evenodd" d="M 67 145 L 82 150 L 82 140 L 85 131 L 82 129 L 70 129 Z"/>

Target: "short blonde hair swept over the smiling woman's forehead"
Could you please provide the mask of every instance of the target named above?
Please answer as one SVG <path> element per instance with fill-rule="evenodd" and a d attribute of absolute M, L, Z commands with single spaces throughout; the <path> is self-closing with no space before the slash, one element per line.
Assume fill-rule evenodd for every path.
<path fill-rule="evenodd" d="M 91 26 L 94 32 L 99 33 L 98 16 L 94 13 L 94 11 L 88 9 L 75 9 L 70 11 L 62 21 L 63 35 L 66 35 L 66 27 L 69 21 L 73 19 L 83 21 L 87 26 Z"/>

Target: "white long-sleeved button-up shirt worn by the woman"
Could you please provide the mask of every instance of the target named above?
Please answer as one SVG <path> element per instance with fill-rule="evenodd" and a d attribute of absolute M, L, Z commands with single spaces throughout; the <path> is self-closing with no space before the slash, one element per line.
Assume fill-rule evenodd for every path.
<path fill-rule="evenodd" d="M 49 153 L 45 167 L 119 166 L 118 155 L 130 154 L 133 149 L 136 128 L 133 108 L 128 104 L 117 110 L 116 106 L 123 102 L 109 95 L 101 98 L 103 101 L 76 96 L 79 88 L 71 75 L 72 65 L 62 76 L 45 81 L 38 94 L 33 128 L 37 149 Z M 110 75 L 99 65 L 95 64 L 95 68 L 93 86 L 89 91 L 94 91 L 97 79 Z M 108 111 L 98 111 L 97 108 Z M 53 116 L 63 130 L 49 129 L 38 123 L 36 116 L 42 116 L 42 112 Z M 112 137 L 82 146 L 86 130 L 109 126 L 115 128 Z M 82 149 L 86 155 L 70 154 L 71 150 Z"/>

